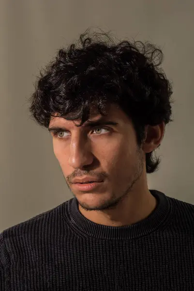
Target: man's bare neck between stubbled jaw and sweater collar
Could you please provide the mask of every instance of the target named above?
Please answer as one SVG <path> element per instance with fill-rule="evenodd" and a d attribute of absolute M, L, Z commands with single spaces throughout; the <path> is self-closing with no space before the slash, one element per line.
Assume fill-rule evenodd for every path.
<path fill-rule="evenodd" d="M 149 189 L 131 191 L 114 209 L 87 211 L 79 205 L 80 212 L 90 221 L 104 226 L 126 226 L 137 223 L 155 209 L 156 198 Z"/>

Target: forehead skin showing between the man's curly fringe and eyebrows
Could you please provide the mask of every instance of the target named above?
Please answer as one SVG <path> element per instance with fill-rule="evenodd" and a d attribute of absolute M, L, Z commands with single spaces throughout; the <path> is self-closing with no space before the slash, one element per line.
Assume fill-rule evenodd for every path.
<path fill-rule="evenodd" d="M 106 108 L 106 115 L 101 115 L 97 109 L 90 110 L 89 120 L 86 121 L 86 124 L 89 121 L 105 121 L 105 120 L 112 120 L 117 121 L 118 123 L 126 124 L 130 123 L 129 117 L 119 108 L 118 105 L 111 104 Z M 53 113 L 54 116 L 51 116 L 49 125 L 54 125 L 55 123 L 62 122 L 63 124 L 80 124 L 81 119 L 76 121 L 74 120 L 67 120 L 65 117 L 60 117 L 58 113 Z"/>

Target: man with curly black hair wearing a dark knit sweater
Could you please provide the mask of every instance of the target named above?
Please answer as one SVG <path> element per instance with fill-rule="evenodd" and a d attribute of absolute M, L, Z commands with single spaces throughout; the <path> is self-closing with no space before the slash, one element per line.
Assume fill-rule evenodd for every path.
<path fill-rule="evenodd" d="M 60 49 L 30 97 L 74 197 L 0 234 L 2 291 L 194 290 L 194 206 L 147 184 L 172 121 L 163 53 L 104 35 Z"/>

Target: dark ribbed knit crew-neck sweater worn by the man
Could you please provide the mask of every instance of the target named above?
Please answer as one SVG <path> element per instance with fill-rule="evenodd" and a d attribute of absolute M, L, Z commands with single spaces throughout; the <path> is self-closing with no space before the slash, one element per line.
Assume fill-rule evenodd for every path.
<path fill-rule="evenodd" d="M 194 291 L 194 205 L 150 190 L 131 226 L 98 225 L 74 197 L 0 233 L 0 291 Z"/>

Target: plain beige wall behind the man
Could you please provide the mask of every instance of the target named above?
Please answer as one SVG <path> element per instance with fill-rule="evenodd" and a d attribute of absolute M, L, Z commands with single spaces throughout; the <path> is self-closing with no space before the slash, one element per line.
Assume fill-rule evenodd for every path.
<path fill-rule="evenodd" d="M 163 48 L 175 121 L 149 188 L 194 204 L 194 1 L 0 0 L 0 231 L 72 197 L 27 100 L 41 66 L 91 26 Z"/>

